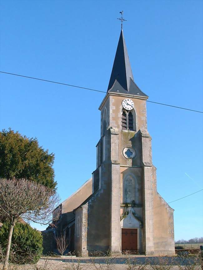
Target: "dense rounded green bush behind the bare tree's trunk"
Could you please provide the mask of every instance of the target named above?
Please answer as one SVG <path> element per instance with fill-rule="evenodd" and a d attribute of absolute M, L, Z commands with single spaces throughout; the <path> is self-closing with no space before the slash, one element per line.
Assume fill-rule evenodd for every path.
<path fill-rule="evenodd" d="M 0 229 L 0 246 L 6 251 L 9 224 Z M 11 263 L 36 263 L 42 255 L 42 235 L 28 224 L 16 223 L 11 240 Z"/>

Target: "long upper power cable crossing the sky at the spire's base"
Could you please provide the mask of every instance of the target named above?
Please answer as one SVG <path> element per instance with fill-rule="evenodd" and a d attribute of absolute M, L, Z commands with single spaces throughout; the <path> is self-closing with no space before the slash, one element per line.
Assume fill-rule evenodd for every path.
<path fill-rule="evenodd" d="M 72 84 L 64 84 L 64 83 L 60 83 L 60 82 L 55 82 L 55 81 L 50 81 L 50 80 L 44 80 L 44 79 L 40 79 L 40 78 L 29 77 L 29 76 L 25 76 L 25 75 L 19 75 L 19 74 L 15 74 L 15 73 L 4 72 L 4 71 L 0 71 L 0 73 L 9 74 L 9 75 L 15 75 L 15 76 L 23 77 L 23 78 L 28 78 L 28 79 L 40 80 L 40 81 L 44 81 L 44 82 L 50 82 L 50 83 L 54 83 L 54 84 L 62 84 L 62 85 L 77 87 L 77 88 L 81 88 L 81 89 L 87 89 L 87 90 L 91 90 L 91 91 L 95 91 L 95 92 L 100 92 L 100 93 L 105 93 L 106 94 L 105 91 L 91 89 L 91 88 L 86 88 L 86 87 L 72 85 Z M 150 102 L 150 103 L 154 103 L 154 104 L 165 105 L 165 106 L 169 106 L 169 107 L 173 107 L 173 108 L 178 108 L 178 109 L 183 109 L 183 110 L 187 110 L 187 111 L 192 111 L 192 112 L 196 112 L 196 113 L 203 113 L 201 111 L 191 110 L 191 109 L 188 109 L 188 108 L 182 108 L 182 107 L 173 106 L 173 105 L 164 104 L 164 103 L 159 103 L 159 102 L 155 102 L 155 101 L 150 101 L 150 100 L 146 100 L 146 101 L 147 102 Z"/>

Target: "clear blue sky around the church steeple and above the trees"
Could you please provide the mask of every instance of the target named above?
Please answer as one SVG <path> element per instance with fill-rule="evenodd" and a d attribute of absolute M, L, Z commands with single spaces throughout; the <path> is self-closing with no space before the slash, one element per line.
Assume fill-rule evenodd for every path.
<path fill-rule="evenodd" d="M 120 35 L 116 18 L 124 10 L 136 84 L 151 101 L 202 111 L 202 5 L 1 0 L 0 70 L 106 91 Z M 0 129 L 37 137 L 55 153 L 62 200 L 96 168 L 104 95 L 0 74 Z M 202 114 L 147 103 L 147 119 L 158 192 L 170 202 L 202 189 Z M 176 240 L 202 236 L 202 194 L 170 204 Z"/>

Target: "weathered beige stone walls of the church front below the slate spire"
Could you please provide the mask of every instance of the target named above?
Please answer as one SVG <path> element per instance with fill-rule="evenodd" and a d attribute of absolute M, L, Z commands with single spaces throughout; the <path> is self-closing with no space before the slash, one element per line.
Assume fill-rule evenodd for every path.
<path fill-rule="evenodd" d="M 122 249 L 121 229 L 136 228 L 139 253 L 175 254 L 173 209 L 156 189 L 146 100 L 131 98 L 136 108 L 137 131 L 129 131 L 121 129 L 124 98 L 121 94 L 107 94 L 100 106 L 102 128 L 97 144 L 97 169 L 92 177 L 93 195 L 76 211 L 76 224 L 77 213 L 80 208 L 83 211 L 80 241 L 85 245 L 82 249 L 75 248 L 83 255 L 106 249 L 117 254 Z M 126 146 L 135 149 L 135 158 L 123 155 Z"/>

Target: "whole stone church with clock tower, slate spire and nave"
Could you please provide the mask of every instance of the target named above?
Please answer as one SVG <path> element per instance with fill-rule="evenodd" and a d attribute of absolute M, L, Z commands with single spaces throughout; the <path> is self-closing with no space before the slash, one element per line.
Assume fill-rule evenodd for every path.
<path fill-rule="evenodd" d="M 99 106 L 96 170 L 54 211 L 53 217 L 60 218 L 55 229 L 42 232 L 49 243 L 45 250 L 56 250 L 53 235 L 60 228 L 70 240 L 68 249 L 83 256 L 106 250 L 175 254 L 174 210 L 157 192 L 147 99 L 134 82 L 121 30 L 107 93 Z"/>

